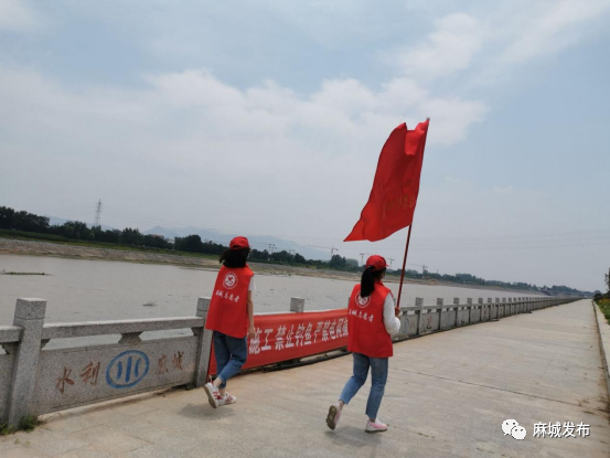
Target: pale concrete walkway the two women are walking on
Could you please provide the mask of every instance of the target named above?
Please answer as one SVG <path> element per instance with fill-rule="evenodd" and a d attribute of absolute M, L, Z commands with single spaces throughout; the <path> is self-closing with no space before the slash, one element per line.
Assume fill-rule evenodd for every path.
<path fill-rule="evenodd" d="M 203 390 L 173 391 L 54 414 L 31 434 L 0 439 L 14 457 L 607 457 L 607 388 L 589 300 L 395 345 L 379 416 L 364 433 L 368 386 L 335 432 L 329 405 L 352 358 L 238 377 L 233 406 Z M 525 440 L 504 436 L 516 419 Z M 534 424 L 590 425 L 587 438 L 534 438 Z"/>

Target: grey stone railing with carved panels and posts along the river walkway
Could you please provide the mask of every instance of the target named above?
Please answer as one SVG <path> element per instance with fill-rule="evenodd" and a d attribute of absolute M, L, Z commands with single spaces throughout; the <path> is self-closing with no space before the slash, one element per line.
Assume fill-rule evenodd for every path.
<path fill-rule="evenodd" d="M 517 298 L 404 307 L 397 340 L 566 303 L 576 298 Z M 0 327 L 0 423 L 14 426 L 41 415 L 178 385 L 201 386 L 210 365 L 212 333 L 204 331 L 208 298 L 193 317 L 44 323 L 46 301 L 18 299 L 13 326 Z M 304 300 L 292 298 L 291 312 Z M 142 340 L 142 332 L 190 329 L 189 335 Z M 116 343 L 44 349 L 52 339 L 119 334 Z M 338 350 L 344 348 L 339 343 Z M 291 361 L 293 363 L 293 361 Z"/>

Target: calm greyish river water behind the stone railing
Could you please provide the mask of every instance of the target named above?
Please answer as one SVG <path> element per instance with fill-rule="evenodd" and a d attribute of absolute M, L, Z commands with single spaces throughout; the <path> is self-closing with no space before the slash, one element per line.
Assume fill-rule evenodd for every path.
<path fill-rule="evenodd" d="M 46 276 L 0 275 L 0 326 L 12 324 L 20 297 L 46 299 L 47 322 L 121 320 L 194 316 L 199 297 L 210 297 L 216 271 L 169 265 L 0 255 L 0 271 L 45 273 Z M 288 311 L 291 297 L 306 299 L 306 310 L 346 307 L 353 281 L 302 276 L 257 275 L 255 312 Z M 394 292 L 398 285 L 386 284 Z M 520 297 L 497 290 L 405 285 L 402 306 L 422 297 L 451 303 L 471 297 Z M 533 296 L 528 294 L 527 296 Z M 153 306 L 145 306 L 153 303 Z"/>

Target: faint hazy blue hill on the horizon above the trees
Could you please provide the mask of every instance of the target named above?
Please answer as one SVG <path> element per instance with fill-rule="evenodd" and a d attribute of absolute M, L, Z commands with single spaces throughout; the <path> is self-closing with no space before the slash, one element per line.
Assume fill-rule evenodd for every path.
<path fill-rule="evenodd" d="M 297 242 L 285 241 L 282 238 L 274 237 L 270 235 L 248 235 L 248 234 L 223 234 L 215 230 L 201 228 L 201 227 L 161 227 L 154 226 L 148 231 L 145 231 L 143 234 L 156 234 L 163 235 L 164 237 L 173 239 L 174 237 L 185 237 L 186 235 L 196 234 L 201 237 L 202 241 L 212 241 L 221 243 L 223 245 L 228 245 L 231 239 L 235 235 L 244 235 L 248 237 L 250 245 L 256 249 L 269 249 L 269 244 L 274 244 L 276 247 L 274 251 L 281 252 L 282 249 L 289 251 L 293 249 L 299 253 L 301 256 L 304 256 L 307 259 L 323 259 L 329 260 L 331 258 L 330 252 L 324 252 L 321 249 L 312 248 L 307 245 L 301 245 Z"/>

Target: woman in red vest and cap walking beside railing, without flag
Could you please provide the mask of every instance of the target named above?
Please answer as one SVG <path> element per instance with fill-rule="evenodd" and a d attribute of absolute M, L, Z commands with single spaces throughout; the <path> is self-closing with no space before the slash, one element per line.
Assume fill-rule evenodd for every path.
<path fill-rule="evenodd" d="M 246 260 L 250 246 L 246 237 L 235 237 L 228 249 L 221 255 L 223 266 L 216 277 L 214 294 L 210 302 L 205 329 L 214 331 L 214 355 L 217 375 L 214 382 L 203 388 L 210 405 L 233 404 L 237 401 L 226 391 L 226 382 L 235 376 L 248 356 L 247 338 L 255 335 L 254 273 Z"/>

